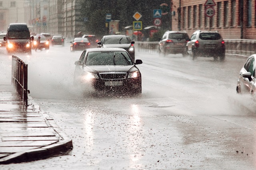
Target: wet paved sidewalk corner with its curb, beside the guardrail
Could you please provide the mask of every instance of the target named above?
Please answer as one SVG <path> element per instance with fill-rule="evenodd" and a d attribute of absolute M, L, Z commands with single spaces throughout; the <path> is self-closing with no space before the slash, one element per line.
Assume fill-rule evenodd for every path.
<path fill-rule="evenodd" d="M 39 160 L 72 147 L 72 139 L 31 96 L 24 106 L 12 85 L 0 85 L 0 164 Z"/>

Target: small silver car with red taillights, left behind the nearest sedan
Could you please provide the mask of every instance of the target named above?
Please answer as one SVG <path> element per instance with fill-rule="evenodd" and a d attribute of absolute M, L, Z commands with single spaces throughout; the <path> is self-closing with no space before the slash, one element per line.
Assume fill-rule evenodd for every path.
<path fill-rule="evenodd" d="M 87 48 L 90 48 L 90 42 L 87 38 L 74 38 L 74 41 L 70 42 L 70 51 L 84 51 Z"/>

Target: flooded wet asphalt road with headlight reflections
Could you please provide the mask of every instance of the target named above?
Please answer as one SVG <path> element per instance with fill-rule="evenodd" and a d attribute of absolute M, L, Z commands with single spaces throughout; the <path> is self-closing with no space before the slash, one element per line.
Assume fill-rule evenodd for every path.
<path fill-rule="evenodd" d="M 81 52 L 66 47 L 21 55 L 30 95 L 73 140 L 73 150 L 2 170 L 255 169 L 255 102 L 236 95 L 246 59 L 192 61 L 137 53 L 142 95 L 72 86 Z M 1 70 L 10 58 L 0 54 Z M 8 72 L 7 71 L 7 72 Z M 8 82 L 8 74 L 1 73 Z"/>

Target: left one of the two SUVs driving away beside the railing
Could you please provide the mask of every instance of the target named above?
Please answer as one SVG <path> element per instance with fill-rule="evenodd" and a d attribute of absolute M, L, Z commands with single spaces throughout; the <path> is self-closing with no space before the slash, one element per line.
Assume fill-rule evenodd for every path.
<path fill-rule="evenodd" d="M 185 31 L 166 31 L 159 41 L 160 53 L 179 54 L 186 56 L 186 44 L 189 41 L 188 33 Z"/>

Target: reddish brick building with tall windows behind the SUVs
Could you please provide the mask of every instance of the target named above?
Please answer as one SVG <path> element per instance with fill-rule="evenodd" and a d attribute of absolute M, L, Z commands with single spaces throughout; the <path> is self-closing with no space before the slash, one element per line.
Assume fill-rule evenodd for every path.
<path fill-rule="evenodd" d="M 256 39 L 256 0 L 171 0 L 172 30 L 217 30 L 224 39 Z M 207 3 L 209 4 L 209 3 Z M 212 7 L 212 17 L 205 9 Z M 180 9 L 180 10 L 179 10 Z M 212 14 L 210 14 L 212 15 Z"/>

